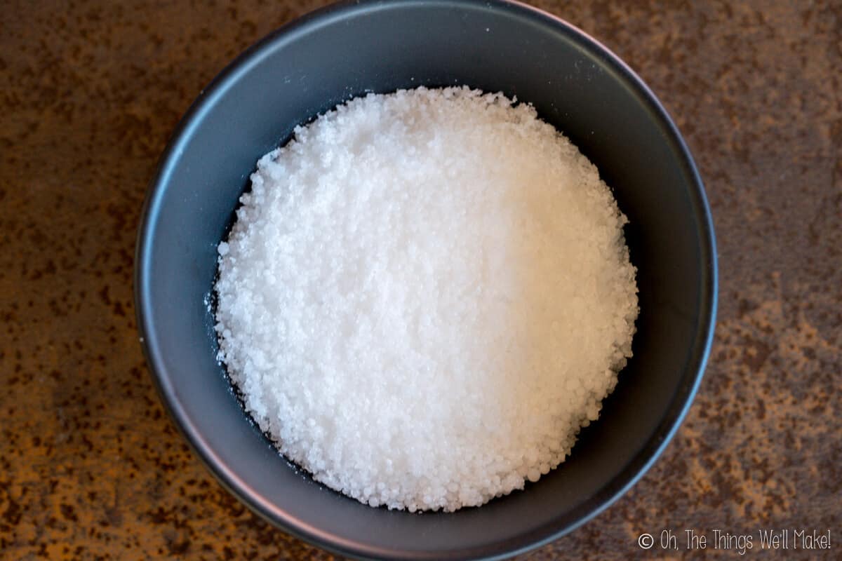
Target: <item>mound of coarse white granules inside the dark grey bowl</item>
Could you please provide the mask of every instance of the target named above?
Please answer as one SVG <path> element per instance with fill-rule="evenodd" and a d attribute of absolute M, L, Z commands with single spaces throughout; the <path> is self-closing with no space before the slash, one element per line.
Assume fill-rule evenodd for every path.
<path fill-rule="evenodd" d="M 357 98 L 258 161 L 219 246 L 220 358 L 287 458 L 455 511 L 570 453 L 632 355 L 626 218 L 534 108 Z"/>

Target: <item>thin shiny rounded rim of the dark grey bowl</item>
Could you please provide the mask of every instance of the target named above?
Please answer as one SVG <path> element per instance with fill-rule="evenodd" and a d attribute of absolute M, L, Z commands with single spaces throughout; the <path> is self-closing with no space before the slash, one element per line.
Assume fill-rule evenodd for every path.
<path fill-rule="evenodd" d="M 380 548 L 366 547 L 364 543 L 345 540 L 330 532 L 308 526 L 295 516 L 290 516 L 277 505 L 270 504 L 263 497 L 253 493 L 247 483 L 233 473 L 224 462 L 221 462 L 214 450 L 205 442 L 197 427 L 190 421 L 189 415 L 186 414 L 184 406 L 175 394 L 168 373 L 166 373 L 157 336 L 151 324 L 152 309 L 151 299 L 149 298 L 149 278 L 152 261 L 152 230 L 157 223 L 165 187 L 179 161 L 179 156 L 184 151 L 185 144 L 193 135 L 197 124 L 203 119 L 205 113 L 215 105 L 216 100 L 221 98 L 243 74 L 257 66 L 266 56 L 269 56 L 270 51 L 274 50 L 279 43 L 295 40 L 301 34 L 309 33 L 313 29 L 324 25 L 333 24 L 338 19 L 344 19 L 351 15 L 411 5 L 483 6 L 495 11 L 513 11 L 536 24 L 552 28 L 556 33 L 565 34 L 584 50 L 600 56 L 606 65 L 616 71 L 621 79 L 631 87 L 632 93 L 647 106 L 655 119 L 659 121 L 659 125 L 669 131 L 669 141 L 674 143 L 679 152 L 679 163 L 692 179 L 691 203 L 694 214 L 701 225 L 698 233 L 701 238 L 700 254 L 704 267 L 703 277 L 701 278 L 699 336 L 694 341 L 695 345 L 688 360 L 689 370 L 695 369 L 692 384 L 684 384 L 679 387 L 673 396 L 671 408 L 667 415 L 664 415 L 658 426 L 655 427 L 652 436 L 635 454 L 632 461 L 611 479 L 609 484 L 606 484 L 597 495 L 578 507 L 579 510 L 585 511 L 582 516 L 578 516 L 573 522 L 563 524 L 561 527 L 554 527 L 548 531 L 542 528 L 541 532 L 544 535 L 537 540 L 520 543 L 516 547 L 497 548 L 496 553 L 491 556 L 483 556 L 483 558 L 490 559 L 508 558 L 518 553 L 539 548 L 569 532 L 573 532 L 595 516 L 600 515 L 622 495 L 625 495 L 647 473 L 672 440 L 681 422 L 684 421 L 688 410 L 690 410 L 690 405 L 692 405 L 695 394 L 699 389 L 710 356 L 716 326 L 718 297 L 716 237 L 704 184 L 695 167 L 695 162 L 690 156 L 685 140 L 679 134 L 673 119 L 670 118 L 655 94 L 620 57 L 583 30 L 552 13 L 547 13 L 519 0 L 497 0 L 495 3 L 488 3 L 485 0 L 343 0 L 306 13 L 265 35 L 242 51 L 201 90 L 182 119 L 179 120 L 168 145 L 158 160 L 157 168 L 148 184 L 136 240 L 134 272 L 136 323 L 141 348 L 165 410 L 167 410 L 173 424 L 179 429 L 185 440 L 189 442 L 195 454 L 205 464 L 205 468 L 228 492 L 237 497 L 242 504 L 247 505 L 249 510 L 269 521 L 275 527 L 280 527 L 285 532 L 289 532 L 319 548 L 356 558 L 379 558 L 382 555 L 383 551 Z M 396 551 L 392 553 L 395 553 L 393 558 L 416 557 L 413 553 L 408 552 Z M 468 557 L 475 557 L 471 554 L 471 551 L 467 550 L 454 550 L 449 553 L 449 557 L 452 558 L 466 558 L 466 554 Z"/>

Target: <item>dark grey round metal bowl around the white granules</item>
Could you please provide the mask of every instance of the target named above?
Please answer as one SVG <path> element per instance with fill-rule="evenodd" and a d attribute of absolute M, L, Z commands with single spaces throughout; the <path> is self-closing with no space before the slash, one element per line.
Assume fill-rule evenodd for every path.
<path fill-rule="evenodd" d="M 216 246 L 259 156 L 349 98 L 466 84 L 532 103 L 600 169 L 629 219 L 634 357 L 568 461 L 525 490 L 454 513 L 372 508 L 302 474 L 244 413 L 216 362 Z M 200 93 L 143 210 L 135 298 L 173 421 L 228 490 L 286 532 L 363 558 L 494 558 L 562 536 L 649 468 L 699 385 L 717 299 L 711 216 L 694 162 L 641 79 L 572 25 L 520 3 L 339 3 L 270 34 Z"/>

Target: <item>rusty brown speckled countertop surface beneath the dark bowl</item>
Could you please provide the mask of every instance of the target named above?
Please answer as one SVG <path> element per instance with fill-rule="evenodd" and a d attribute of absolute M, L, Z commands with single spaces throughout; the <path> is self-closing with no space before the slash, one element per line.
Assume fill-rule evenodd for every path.
<path fill-rule="evenodd" d="M 321 4 L 0 6 L 0 558 L 331 558 L 189 452 L 131 294 L 147 181 L 179 116 L 239 51 Z M 663 457 L 523 558 L 643 556 L 637 536 L 663 529 L 754 533 L 743 558 L 842 558 L 842 3 L 536 4 L 674 116 L 706 181 L 721 293 L 704 382 Z M 762 552 L 761 527 L 829 530 L 833 549 Z M 708 545 L 693 557 L 740 558 Z"/>

